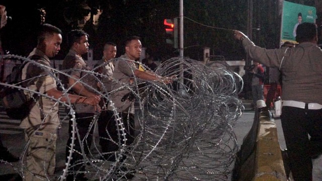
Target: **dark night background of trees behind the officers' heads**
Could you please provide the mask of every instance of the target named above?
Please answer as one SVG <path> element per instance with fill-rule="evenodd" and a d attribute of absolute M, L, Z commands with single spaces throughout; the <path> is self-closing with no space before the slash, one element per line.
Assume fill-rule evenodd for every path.
<path fill-rule="evenodd" d="M 262 47 L 277 48 L 279 45 L 280 16 L 279 0 L 254 0 L 253 41 Z M 316 1 L 289 1 L 314 6 Z M 27 3 L 27 2 L 26 2 Z M 6 52 L 27 56 L 36 46 L 36 35 L 41 24 L 40 11 L 46 11 L 45 23 L 63 31 L 61 51 L 55 59 L 63 59 L 68 52 L 68 31 L 77 28 L 77 20 L 91 12 L 103 10 L 99 25 L 88 21 L 83 30 L 90 35 L 90 47 L 94 60 L 101 59 L 102 48 L 107 41 L 117 44 L 118 55 L 124 53 L 124 40 L 128 36 L 141 37 L 146 47 L 156 57 L 172 57 L 178 50 L 166 44 L 164 19 L 179 17 L 179 1 L 173 0 L 43 0 L 22 5 L 19 1 L 2 1 L 12 20 L 1 30 L 2 46 Z M 84 10 L 87 4 L 91 9 Z M 211 55 L 223 55 L 228 60 L 245 59 L 239 42 L 232 39 L 231 30 L 247 30 L 248 5 L 240 0 L 184 1 L 184 56 L 202 60 L 203 48 L 209 47 Z M 192 21 L 193 20 L 193 21 Z M 197 23 L 196 23 L 197 22 Z M 225 30 L 229 29 L 229 30 Z"/>

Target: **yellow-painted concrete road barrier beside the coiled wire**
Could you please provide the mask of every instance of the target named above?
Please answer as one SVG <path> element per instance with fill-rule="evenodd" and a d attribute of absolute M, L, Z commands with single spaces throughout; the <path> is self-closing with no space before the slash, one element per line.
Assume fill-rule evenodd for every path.
<path fill-rule="evenodd" d="M 252 128 L 237 153 L 232 180 L 289 180 L 270 111 L 256 110 Z"/>

